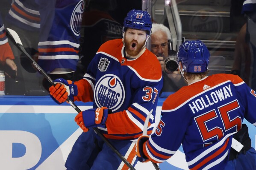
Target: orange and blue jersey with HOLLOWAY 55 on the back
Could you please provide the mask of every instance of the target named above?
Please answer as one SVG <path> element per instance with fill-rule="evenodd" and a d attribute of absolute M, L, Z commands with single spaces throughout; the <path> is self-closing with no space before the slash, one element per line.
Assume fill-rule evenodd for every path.
<path fill-rule="evenodd" d="M 168 96 L 144 153 L 161 163 L 182 144 L 190 170 L 224 169 L 243 119 L 256 126 L 256 92 L 232 74 L 215 74 Z"/>

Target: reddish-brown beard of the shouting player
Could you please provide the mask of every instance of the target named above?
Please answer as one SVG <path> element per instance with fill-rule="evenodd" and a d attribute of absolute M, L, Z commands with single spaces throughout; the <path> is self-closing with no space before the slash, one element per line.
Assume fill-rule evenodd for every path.
<path fill-rule="evenodd" d="M 144 40 L 143 43 L 139 44 L 138 41 L 136 40 L 132 40 L 131 42 L 128 42 L 128 40 L 124 39 L 124 44 L 125 44 L 124 46 L 127 54 L 133 57 L 137 56 L 141 51 L 141 49 L 143 48 L 143 46 L 145 45 L 145 42 L 146 40 Z M 134 49 L 132 49 L 132 44 L 136 44 Z"/>

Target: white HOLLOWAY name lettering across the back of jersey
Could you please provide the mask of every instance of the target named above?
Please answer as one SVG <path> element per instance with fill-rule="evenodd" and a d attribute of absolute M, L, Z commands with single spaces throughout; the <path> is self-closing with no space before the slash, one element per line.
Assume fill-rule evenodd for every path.
<path fill-rule="evenodd" d="M 219 101 L 227 99 L 231 96 L 233 96 L 233 94 L 231 92 L 230 85 L 226 85 L 223 88 L 219 88 L 218 90 L 212 91 L 210 95 L 206 94 L 205 96 L 200 97 L 200 99 L 192 101 L 188 105 L 191 111 L 193 113 L 196 113 L 199 110 L 202 111 L 204 108 L 208 108 L 209 106 L 214 105 L 215 103 L 218 103 Z"/>

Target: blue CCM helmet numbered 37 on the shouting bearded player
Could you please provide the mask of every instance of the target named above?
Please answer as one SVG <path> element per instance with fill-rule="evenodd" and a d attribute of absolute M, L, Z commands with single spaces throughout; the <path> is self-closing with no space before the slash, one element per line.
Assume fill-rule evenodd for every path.
<path fill-rule="evenodd" d="M 132 9 L 124 18 L 125 28 L 145 30 L 147 34 L 151 34 L 152 21 L 150 14 L 147 11 Z"/>

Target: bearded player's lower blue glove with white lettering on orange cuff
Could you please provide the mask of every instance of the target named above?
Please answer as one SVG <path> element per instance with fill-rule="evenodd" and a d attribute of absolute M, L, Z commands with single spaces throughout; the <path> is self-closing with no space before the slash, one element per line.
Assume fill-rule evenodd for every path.
<path fill-rule="evenodd" d="M 88 109 L 77 114 L 75 121 L 84 132 L 88 131 L 90 127 L 106 128 L 106 119 L 110 110 L 106 107 L 97 109 Z"/>

